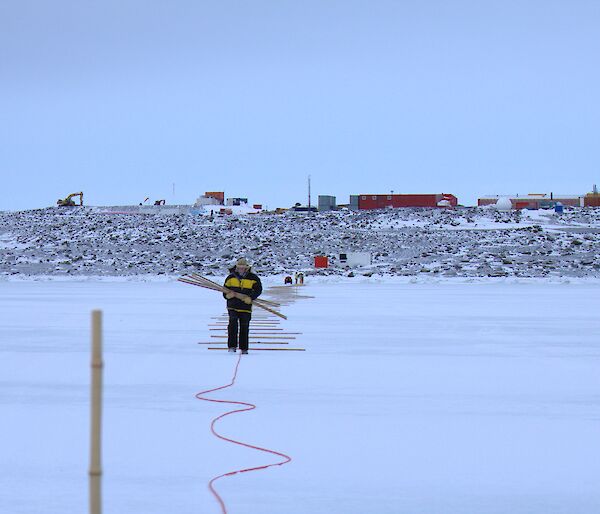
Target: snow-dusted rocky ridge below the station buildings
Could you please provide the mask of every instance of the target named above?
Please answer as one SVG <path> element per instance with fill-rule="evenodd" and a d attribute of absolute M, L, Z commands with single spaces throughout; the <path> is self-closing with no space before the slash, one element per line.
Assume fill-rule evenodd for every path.
<path fill-rule="evenodd" d="M 600 277 L 600 209 L 390 209 L 257 214 L 114 214 L 83 207 L 0 213 L 0 276 L 222 275 L 244 255 L 264 275 L 423 273 Z M 339 253 L 370 252 L 350 270 Z M 315 255 L 330 267 L 313 268 Z"/>

